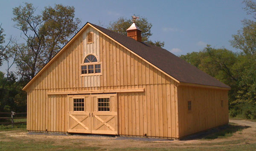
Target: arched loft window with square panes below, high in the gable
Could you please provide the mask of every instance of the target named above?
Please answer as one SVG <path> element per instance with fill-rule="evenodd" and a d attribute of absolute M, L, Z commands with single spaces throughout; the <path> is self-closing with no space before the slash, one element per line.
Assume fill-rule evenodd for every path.
<path fill-rule="evenodd" d="M 102 62 L 99 62 L 95 55 L 87 55 L 81 64 L 81 76 L 101 74 Z"/>

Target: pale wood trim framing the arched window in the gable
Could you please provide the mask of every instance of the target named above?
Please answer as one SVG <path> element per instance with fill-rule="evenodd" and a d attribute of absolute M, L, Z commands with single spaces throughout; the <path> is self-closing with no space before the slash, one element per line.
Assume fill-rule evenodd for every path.
<path fill-rule="evenodd" d="M 86 59 L 86 57 L 88 55 L 94 55 L 97 59 L 98 62 L 87 62 L 87 63 L 84 63 L 84 60 Z M 88 53 L 84 59 L 82 60 L 83 62 L 80 64 L 80 68 L 79 68 L 79 73 L 80 73 L 80 76 L 96 76 L 96 75 L 102 75 L 102 62 L 99 62 L 99 57 L 94 54 L 94 53 Z M 100 73 L 95 73 L 95 64 L 100 64 Z M 93 73 L 88 73 L 88 66 L 87 65 L 93 65 Z M 82 74 L 82 69 L 81 69 L 81 66 L 87 66 L 87 73 L 84 73 Z"/>

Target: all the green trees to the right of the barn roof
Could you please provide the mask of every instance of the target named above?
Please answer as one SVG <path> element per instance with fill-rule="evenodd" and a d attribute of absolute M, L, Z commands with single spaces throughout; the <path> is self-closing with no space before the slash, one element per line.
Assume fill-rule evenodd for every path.
<path fill-rule="evenodd" d="M 244 0 L 243 3 L 253 20 L 242 20 L 243 28 L 232 35 L 230 41 L 241 51 L 207 45 L 202 51 L 187 53 L 180 58 L 231 87 L 228 93 L 230 116 L 256 119 L 256 2 Z"/>

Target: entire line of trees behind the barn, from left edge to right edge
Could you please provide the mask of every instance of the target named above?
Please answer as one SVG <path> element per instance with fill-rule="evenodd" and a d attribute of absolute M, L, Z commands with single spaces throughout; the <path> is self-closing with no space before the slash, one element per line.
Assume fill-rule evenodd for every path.
<path fill-rule="evenodd" d="M 243 3 L 253 20 L 242 20 L 243 28 L 230 41 L 239 52 L 207 45 L 199 52 L 180 58 L 231 87 L 230 116 L 256 119 L 256 2 L 244 0 Z M 6 73 L 0 72 L 0 110 L 23 112 L 26 111 L 26 92 L 22 88 L 78 32 L 81 20 L 75 17 L 73 6 L 62 4 L 46 6 L 38 13 L 33 4 L 24 3 L 13 8 L 13 16 L 14 28 L 21 31 L 23 42 L 12 37 L 5 41 L 6 35 L 0 26 L 0 67 L 3 62 L 8 66 Z M 107 28 L 126 35 L 125 30 L 131 24 L 130 18 L 120 17 Z M 164 46 L 163 41 L 149 39 L 152 24 L 147 18 L 140 17 L 136 24 L 142 30 L 143 42 Z M 9 71 L 13 64 L 17 72 Z"/>

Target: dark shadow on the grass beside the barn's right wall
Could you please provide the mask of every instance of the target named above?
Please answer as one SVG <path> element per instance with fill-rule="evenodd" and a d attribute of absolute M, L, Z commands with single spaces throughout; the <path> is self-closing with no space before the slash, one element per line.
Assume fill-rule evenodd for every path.
<path fill-rule="evenodd" d="M 229 123 L 228 125 L 220 126 L 218 128 L 212 128 L 210 130 L 199 132 L 197 134 L 192 134 L 182 140 L 192 140 L 192 139 L 217 139 L 226 138 L 233 136 L 237 131 L 242 131 L 245 128 L 250 128 L 250 126 L 236 125 L 235 123 Z"/>

